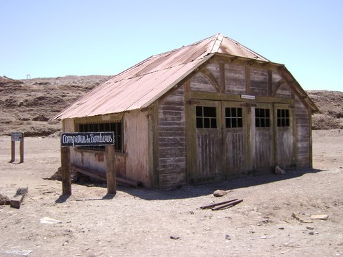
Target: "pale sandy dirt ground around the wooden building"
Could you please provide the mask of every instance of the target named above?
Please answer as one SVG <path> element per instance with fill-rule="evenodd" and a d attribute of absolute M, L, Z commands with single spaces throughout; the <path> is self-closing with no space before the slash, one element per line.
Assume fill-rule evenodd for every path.
<path fill-rule="evenodd" d="M 60 167 L 59 138 L 25 138 L 24 162 L 10 164 L 10 137 L 0 136 L 0 193 L 29 188 L 20 209 L 0 206 L 0 256 L 342 256 L 343 131 L 313 136 L 313 170 L 170 191 L 119 186 L 115 197 L 72 184 L 69 198 L 43 180 Z M 217 189 L 229 193 L 216 198 Z M 309 217 L 319 214 L 329 219 Z"/>

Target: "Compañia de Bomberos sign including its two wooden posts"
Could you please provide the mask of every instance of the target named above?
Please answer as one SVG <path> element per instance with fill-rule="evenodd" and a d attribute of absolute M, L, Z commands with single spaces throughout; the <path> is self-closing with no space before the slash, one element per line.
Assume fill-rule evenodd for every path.
<path fill-rule="evenodd" d="M 115 174 L 115 132 L 73 132 L 61 134 L 62 193 L 71 195 L 70 150 L 67 147 L 106 145 L 107 192 L 117 191 Z"/>

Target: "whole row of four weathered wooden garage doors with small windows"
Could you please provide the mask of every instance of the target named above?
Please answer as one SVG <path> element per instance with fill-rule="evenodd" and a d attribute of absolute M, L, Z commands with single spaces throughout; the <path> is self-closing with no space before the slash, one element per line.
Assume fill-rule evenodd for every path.
<path fill-rule="evenodd" d="M 187 139 L 191 182 L 266 173 L 276 164 L 285 169 L 292 162 L 292 109 L 288 106 L 198 101 L 189 114 L 193 114 L 187 128 L 191 131 Z"/>

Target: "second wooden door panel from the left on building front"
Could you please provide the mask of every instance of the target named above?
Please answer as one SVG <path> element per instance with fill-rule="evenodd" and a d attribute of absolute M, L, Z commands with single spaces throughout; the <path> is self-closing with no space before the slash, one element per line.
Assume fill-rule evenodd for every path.
<path fill-rule="evenodd" d="M 224 164 L 227 177 L 235 177 L 248 169 L 247 108 L 242 102 L 222 102 Z"/>

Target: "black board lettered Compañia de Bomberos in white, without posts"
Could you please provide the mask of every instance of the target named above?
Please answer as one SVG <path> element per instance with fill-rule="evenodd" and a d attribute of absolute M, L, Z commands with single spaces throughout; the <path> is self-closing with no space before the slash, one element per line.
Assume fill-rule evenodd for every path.
<path fill-rule="evenodd" d="M 75 132 L 61 134 L 62 147 L 114 144 L 115 132 Z"/>

